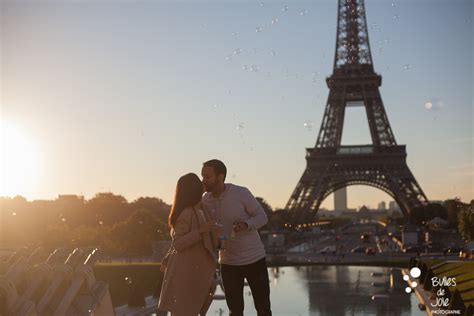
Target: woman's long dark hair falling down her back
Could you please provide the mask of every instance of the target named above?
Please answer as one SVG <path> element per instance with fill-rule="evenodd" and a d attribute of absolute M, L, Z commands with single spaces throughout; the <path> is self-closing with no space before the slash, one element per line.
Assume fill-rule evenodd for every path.
<path fill-rule="evenodd" d="M 188 173 L 179 178 L 174 192 L 173 206 L 168 216 L 168 225 L 173 227 L 183 210 L 201 201 L 203 185 L 195 173 Z"/>

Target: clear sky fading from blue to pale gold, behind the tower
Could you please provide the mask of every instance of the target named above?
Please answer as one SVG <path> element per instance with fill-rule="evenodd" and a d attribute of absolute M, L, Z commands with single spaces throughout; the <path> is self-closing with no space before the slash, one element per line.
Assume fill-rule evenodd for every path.
<path fill-rule="evenodd" d="M 473 2 L 365 7 L 410 170 L 430 200 L 470 201 Z M 323 118 L 336 0 L 0 0 L 0 10 L 0 196 L 171 203 L 180 176 L 218 158 L 227 182 L 285 206 Z M 342 144 L 369 135 L 363 108 L 348 108 Z M 349 207 L 390 200 L 348 187 Z"/>

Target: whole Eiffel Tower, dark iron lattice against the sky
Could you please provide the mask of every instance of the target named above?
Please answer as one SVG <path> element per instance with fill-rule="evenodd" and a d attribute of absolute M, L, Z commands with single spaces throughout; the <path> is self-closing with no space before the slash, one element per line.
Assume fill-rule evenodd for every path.
<path fill-rule="evenodd" d="M 333 73 L 316 146 L 306 149 L 306 169 L 286 209 L 293 224 L 311 221 L 322 201 L 349 185 L 368 185 L 389 194 L 405 220 L 428 202 L 406 163 L 405 145 L 397 145 L 374 72 L 364 0 L 339 0 Z M 341 146 L 346 107 L 364 106 L 372 144 Z"/>

